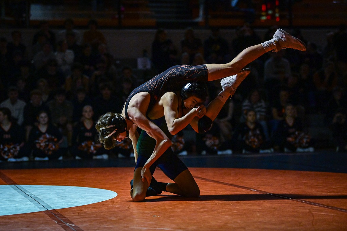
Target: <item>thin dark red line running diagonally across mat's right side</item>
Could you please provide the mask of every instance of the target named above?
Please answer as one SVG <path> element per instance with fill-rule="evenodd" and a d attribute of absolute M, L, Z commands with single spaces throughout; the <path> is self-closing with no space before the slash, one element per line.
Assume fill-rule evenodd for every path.
<path fill-rule="evenodd" d="M 196 177 L 196 176 L 194 176 L 194 178 L 200 179 L 200 180 L 209 181 L 209 182 L 213 182 L 213 183 L 219 183 L 221 185 L 227 185 L 227 186 L 232 186 L 232 187 L 236 187 L 236 188 L 240 188 L 240 189 L 246 189 L 246 190 L 249 190 L 249 191 L 253 191 L 253 192 L 261 193 L 261 194 L 266 194 L 266 195 L 273 196 L 273 197 L 279 197 L 279 198 L 283 198 L 283 199 L 287 199 L 287 200 L 294 200 L 296 202 L 300 202 L 300 203 L 304 203 L 304 204 L 309 204 L 309 205 L 314 205 L 314 206 L 318 206 L 318 207 L 338 210 L 338 211 L 347 213 L 347 209 L 344 209 L 344 208 L 339 208 L 339 207 L 324 205 L 324 204 L 320 204 L 320 203 L 310 202 L 308 200 L 290 198 L 290 197 L 283 196 L 283 195 L 280 195 L 280 194 L 269 193 L 269 192 L 266 192 L 266 191 L 263 191 L 263 190 L 259 190 L 259 189 L 248 188 L 248 187 L 241 186 L 241 185 L 234 185 L 234 184 L 231 184 L 231 183 L 225 183 L 225 182 L 221 182 L 221 181 L 217 181 L 217 180 L 211 180 L 211 179 L 207 179 L 207 178 L 203 178 L 203 177 Z"/>

